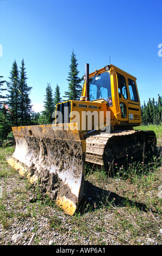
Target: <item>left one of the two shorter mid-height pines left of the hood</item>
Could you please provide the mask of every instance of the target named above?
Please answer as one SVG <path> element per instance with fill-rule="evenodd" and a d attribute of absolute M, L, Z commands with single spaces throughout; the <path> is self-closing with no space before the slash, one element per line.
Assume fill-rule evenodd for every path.
<path fill-rule="evenodd" d="M 45 110 L 42 111 L 43 123 L 52 124 L 52 121 L 53 121 L 52 113 L 54 112 L 54 100 L 53 100 L 53 93 L 52 93 L 52 88 L 50 83 L 47 83 L 45 101 L 43 102 L 45 103 L 44 105 Z"/>

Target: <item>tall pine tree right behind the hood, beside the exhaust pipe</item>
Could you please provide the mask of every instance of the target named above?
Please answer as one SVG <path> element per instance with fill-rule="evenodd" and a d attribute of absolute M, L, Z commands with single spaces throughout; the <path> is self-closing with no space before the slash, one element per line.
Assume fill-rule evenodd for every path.
<path fill-rule="evenodd" d="M 80 86 L 82 78 L 78 77 L 79 71 L 77 70 L 77 66 L 76 54 L 72 51 L 70 72 L 68 73 L 67 78 L 68 91 L 65 92 L 65 97 L 67 97 L 68 100 L 78 100 L 82 94 L 82 87 Z"/>

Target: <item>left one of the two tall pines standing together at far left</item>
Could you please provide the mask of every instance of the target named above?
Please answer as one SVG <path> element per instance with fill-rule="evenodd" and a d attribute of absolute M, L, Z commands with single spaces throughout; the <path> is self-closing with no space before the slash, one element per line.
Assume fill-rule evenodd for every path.
<path fill-rule="evenodd" d="M 14 60 L 10 71 L 10 82 L 7 82 L 8 87 L 8 106 L 11 111 L 10 121 L 13 126 L 18 126 L 18 109 L 20 108 L 20 92 L 18 88 L 19 76 L 16 60 Z"/>

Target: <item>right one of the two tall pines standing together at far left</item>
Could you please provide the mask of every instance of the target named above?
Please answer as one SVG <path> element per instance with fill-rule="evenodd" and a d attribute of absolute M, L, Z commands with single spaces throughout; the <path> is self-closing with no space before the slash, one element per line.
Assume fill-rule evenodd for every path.
<path fill-rule="evenodd" d="M 28 125 L 31 122 L 32 105 L 29 98 L 29 93 L 32 87 L 27 85 L 26 68 L 24 67 L 24 59 L 21 62 L 20 68 L 20 81 L 19 81 L 19 93 L 20 93 L 20 122 L 21 125 Z"/>

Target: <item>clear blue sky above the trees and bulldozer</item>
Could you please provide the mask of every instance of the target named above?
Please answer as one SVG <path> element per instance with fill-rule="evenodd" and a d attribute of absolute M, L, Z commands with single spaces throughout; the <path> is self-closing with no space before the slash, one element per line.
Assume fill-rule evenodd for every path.
<path fill-rule="evenodd" d="M 68 90 L 73 50 L 80 77 L 85 63 L 93 72 L 110 56 L 137 78 L 141 104 L 162 95 L 161 0 L 1 0 L 0 10 L 0 75 L 9 81 L 14 60 L 24 59 L 35 111 L 47 83 L 62 97 Z"/>

